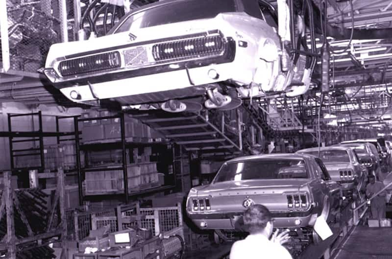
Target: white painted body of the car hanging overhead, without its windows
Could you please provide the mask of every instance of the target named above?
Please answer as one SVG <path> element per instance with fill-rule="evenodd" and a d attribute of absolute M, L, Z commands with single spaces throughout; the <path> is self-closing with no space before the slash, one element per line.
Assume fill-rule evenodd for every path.
<path fill-rule="evenodd" d="M 175 1 L 181 0 L 160 4 Z M 156 60 L 154 45 L 184 41 L 188 36 L 194 39 L 196 34 L 202 35 L 198 36 L 200 39 L 221 35 L 222 41 L 231 46 L 229 51 L 234 51 L 233 56 L 224 62 L 216 62 L 214 58 L 207 62 L 207 57 L 200 55 Z M 131 28 L 87 41 L 54 44 L 49 50 L 45 74 L 75 102 L 97 99 L 117 100 L 122 104 L 159 102 L 202 95 L 211 84 L 223 81 L 234 83 L 242 97 L 262 96 L 290 90 L 287 86 L 291 77 L 280 68 L 280 46 L 276 29 L 266 21 L 245 12 L 220 13 L 211 19 Z M 173 48 L 166 50 L 173 52 Z M 119 56 L 116 54 L 115 62 L 120 62 L 120 67 L 62 75 L 61 66 L 83 63 L 86 58 L 116 51 Z M 188 62 L 193 65 L 187 66 Z"/>

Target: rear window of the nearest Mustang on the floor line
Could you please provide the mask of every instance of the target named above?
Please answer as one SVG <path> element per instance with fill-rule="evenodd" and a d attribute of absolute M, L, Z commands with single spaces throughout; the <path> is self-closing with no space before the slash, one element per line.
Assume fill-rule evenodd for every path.
<path fill-rule="evenodd" d="M 257 159 L 225 163 L 214 183 L 226 181 L 308 178 L 303 159 Z"/>

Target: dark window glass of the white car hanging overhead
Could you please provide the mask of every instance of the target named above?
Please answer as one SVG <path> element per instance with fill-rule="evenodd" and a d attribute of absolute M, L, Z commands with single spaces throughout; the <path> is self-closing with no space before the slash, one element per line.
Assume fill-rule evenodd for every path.
<path fill-rule="evenodd" d="M 220 13 L 236 12 L 237 9 L 235 0 L 174 1 L 130 14 L 113 31 L 119 33 L 162 24 L 209 19 Z"/>

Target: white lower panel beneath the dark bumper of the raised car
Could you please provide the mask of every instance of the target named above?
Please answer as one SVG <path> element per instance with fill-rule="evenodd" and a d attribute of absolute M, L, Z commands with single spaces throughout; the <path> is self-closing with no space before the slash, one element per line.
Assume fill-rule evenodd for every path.
<path fill-rule="evenodd" d="M 213 79 L 209 77 L 208 72 L 212 69 L 217 71 L 219 78 Z M 252 80 L 253 70 L 246 68 L 239 69 L 238 65 L 234 63 L 224 63 L 188 69 L 188 72 L 187 70 L 176 70 L 137 77 L 128 77 L 113 81 L 96 81 L 96 83 L 89 82 L 91 86 L 88 84 L 75 84 L 65 88 L 64 85 L 56 85 L 56 87 L 59 88 L 62 94 L 70 100 L 74 102 L 82 102 L 95 100 L 96 98 L 108 99 L 186 89 L 189 87 L 193 87 L 195 90 L 201 91 L 205 88 L 202 85 L 225 81 L 232 79 L 237 75 L 241 78 L 236 79 L 242 80 L 243 82 L 250 82 Z M 71 98 L 72 91 L 76 91 L 78 93 L 78 99 Z M 140 104 L 147 101 L 148 100 L 139 100 L 137 103 L 129 104 Z"/>

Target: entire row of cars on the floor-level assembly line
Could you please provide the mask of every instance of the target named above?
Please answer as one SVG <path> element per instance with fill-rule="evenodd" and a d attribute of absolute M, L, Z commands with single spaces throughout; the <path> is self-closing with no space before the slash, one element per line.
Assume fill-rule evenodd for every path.
<path fill-rule="evenodd" d="M 244 232 L 245 209 L 263 204 L 275 228 L 290 229 L 289 248 L 301 250 L 320 241 L 313 228 L 320 215 L 339 221 L 343 204 L 363 200 L 368 174 L 382 174 L 374 147 L 361 140 L 229 160 L 211 184 L 190 190 L 187 213 L 198 228 L 222 236 L 222 230 Z"/>

